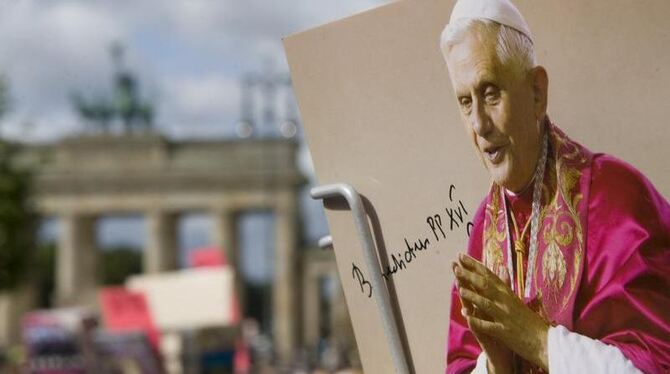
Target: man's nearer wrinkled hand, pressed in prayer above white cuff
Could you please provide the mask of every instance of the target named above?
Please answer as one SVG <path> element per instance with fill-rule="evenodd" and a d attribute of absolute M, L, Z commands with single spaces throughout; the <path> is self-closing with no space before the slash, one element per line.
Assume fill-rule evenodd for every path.
<path fill-rule="evenodd" d="M 475 336 L 490 336 L 547 371 L 549 324 L 524 305 L 497 275 L 472 257 L 459 255 L 454 274 L 464 305 L 470 303 L 474 307 L 464 307 L 463 312 Z"/>

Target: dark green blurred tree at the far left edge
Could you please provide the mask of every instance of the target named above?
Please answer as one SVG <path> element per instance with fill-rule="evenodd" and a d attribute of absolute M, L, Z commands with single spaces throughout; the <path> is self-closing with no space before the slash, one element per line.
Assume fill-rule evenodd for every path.
<path fill-rule="evenodd" d="M 0 78 L 0 118 L 8 110 L 7 80 Z M 30 172 L 16 165 L 20 147 L 0 139 L 0 291 L 24 278 L 33 248 L 34 215 L 29 207 Z"/>

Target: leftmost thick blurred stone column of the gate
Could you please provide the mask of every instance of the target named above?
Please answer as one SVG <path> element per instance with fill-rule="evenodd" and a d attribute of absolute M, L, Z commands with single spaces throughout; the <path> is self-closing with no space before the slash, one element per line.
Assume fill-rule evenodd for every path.
<path fill-rule="evenodd" d="M 96 305 L 98 250 L 95 218 L 60 217 L 56 252 L 56 298 L 60 306 Z"/>

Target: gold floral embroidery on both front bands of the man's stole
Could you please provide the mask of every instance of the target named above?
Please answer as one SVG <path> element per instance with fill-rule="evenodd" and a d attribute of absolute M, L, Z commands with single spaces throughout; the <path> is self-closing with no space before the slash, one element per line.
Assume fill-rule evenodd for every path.
<path fill-rule="evenodd" d="M 584 233 L 578 206 L 582 169 L 588 161 L 581 148 L 552 127 L 550 157 L 542 186 L 544 206 L 540 210 L 539 238 L 542 246 L 535 262 L 532 284 L 541 308 L 550 321 L 560 318 L 577 289 L 584 256 Z M 493 184 L 485 210 L 483 260 L 487 268 L 502 276 L 506 270 L 503 248 L 507 232 L 500 188 Z M 530 264 L 529 264 L 530 266 Z M 539 269 L 541 268 L 541 269 Z M 541 287 L 538 287 L 538 283 Z"/>

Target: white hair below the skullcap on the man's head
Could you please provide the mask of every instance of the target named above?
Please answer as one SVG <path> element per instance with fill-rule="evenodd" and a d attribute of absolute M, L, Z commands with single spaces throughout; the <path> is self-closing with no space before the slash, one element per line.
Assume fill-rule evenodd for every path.
<path fill-rule="evenodd" d="M 501 64 L 510 66 L 520 73 L 527 73 L 537 65 L 533 42 L 516 29 L 485 18 L 461 18 L 449 23 L 440 37 L 440 48 L 444 59 L 451 47 L 461 43 L 467 32 L 481 27 L 486 34 L 497 35 L 496 53 Z"/>

